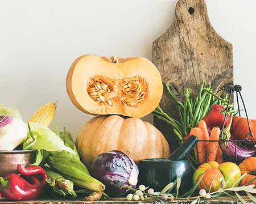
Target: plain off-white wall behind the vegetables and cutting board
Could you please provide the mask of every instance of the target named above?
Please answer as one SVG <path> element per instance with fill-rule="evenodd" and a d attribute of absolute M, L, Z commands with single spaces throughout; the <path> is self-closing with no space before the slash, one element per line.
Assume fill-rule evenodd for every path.
<path fill-rule="evenodd" d="M 152 59 L 152 42 L 170 26 L 177 0 L 1 0 L 0 103 L 24 120 L 59 100 L 59 128 L 73 137 L 92 116 L 69 100 L 65 76 L 82 54 Z M 234 83 L 243 87 L 250 118 L 256 118 L 256 1 L 208 0 L 216 31 L 233 44 Z M 146 120 L 152 121 L 148 116 Z"/>

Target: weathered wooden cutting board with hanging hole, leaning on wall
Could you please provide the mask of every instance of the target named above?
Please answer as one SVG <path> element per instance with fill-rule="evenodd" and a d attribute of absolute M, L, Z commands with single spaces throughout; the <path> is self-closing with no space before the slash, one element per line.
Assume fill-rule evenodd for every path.
<path fill-rule="evenodd" d="M 213 29 L 204 0 L 177 2 L 174 21 L 153 42 L 153 62 L 177 99 L 183 101 L 185 88 L 195 97 L 202 80 L 212 83 L 213 91 L 226 94 L 233 84 L 233 46 Z M 164 88 L 160 106 L 170 116 L 179 118 L 175 102 Z M 178 146 L 170 125 L 154 117 L 154 125 L 170 143 Z"/>

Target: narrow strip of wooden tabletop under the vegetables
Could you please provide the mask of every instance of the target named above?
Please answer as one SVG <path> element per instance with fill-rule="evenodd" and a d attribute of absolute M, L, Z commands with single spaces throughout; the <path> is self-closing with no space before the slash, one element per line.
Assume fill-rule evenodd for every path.
<path fill-rule="evenodd" d="M 251 202 L 248 198 L 246 197 L 243 197 L 248 203 L 253 203 Z M 189 201 L 189 200 L 186 200 L 186 199 L 183 199 L 183 200 L 174 200 L 174 201 L 166 201 L 166 203 L 182 203 L 182 204 L 185 204 L 185 203 L 191 203 L 192 201 Z M 146 199 L 144 201 L 127 201 L 125 198 L 115 198 L 115 199 L 103 199 L 101 201 L 93 201 L 93 202 L 88 202 L 88 201 L 85 201 L 82 197 L 80 198 L 72 198 L 72 199 L 67 199 L 67 198 L 50 198 L 50 197 L 42 197 L 42 198 L 38 198 L 38 199 L 35 199 L 35 200 L 31 200 L 31 201 L 7 201 L 5 198 L 1 198 L 0 199 L 0 203 L 30 203 L 30 204 L 39 204 L 39 203 L 42 203 L 42 204 L 46 204 L 46 203 L 49 203 L 49 204 L 60 204 L 60 203 L 65 203 L 65 204 L 88 204 L 88 203 L 98 203 L 98 204 L 111 204 L 111 203 L 114 203 L 114 204 L 124 204 L 124 203 L 147 203 L 147 204 L 150 204 L 150 203 L 155 203 L 155 204 L 162 204 L 160 201 L 156 201 L 156 200 L 150 200 L 150 199 Z M 241 203 L 240 201 L 236 200 L 236 199 L 233 199 L 231 197 L 220 197 L 220 198 L 214 198 L 214 199 L 208 199 L 208 200 L 202 200 L 200 201 L 200 203 L 218 203 L 218 204 L 221 204 L 221 203 L 225 203 L 225 204 L 236 204 L 236 203 Z"/>

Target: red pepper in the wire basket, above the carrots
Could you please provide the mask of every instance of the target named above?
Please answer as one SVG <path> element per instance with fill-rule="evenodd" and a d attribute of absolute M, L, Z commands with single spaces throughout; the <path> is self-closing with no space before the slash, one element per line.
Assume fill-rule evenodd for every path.
<path fill-rule="evenodd" d="M 212 130 L 214 127 L 218 127 L 222 129 L 224 117 L 225 117 L 225 108 L 222 107 L 222 105 L 214 104 L 210 108 L 210 111 L 204 116 L 202 120 L 204 120 L 207 124 L 207 128 L 210 134 L 210 130 Z M 226 120 L 225 120 L 225 126 L 226 127 L 229 123 L 229 113 L 226 114 Z M 184 140 L 187 140 L 190 137 L 190 133 L 185 135 L 183 138 Z"/>

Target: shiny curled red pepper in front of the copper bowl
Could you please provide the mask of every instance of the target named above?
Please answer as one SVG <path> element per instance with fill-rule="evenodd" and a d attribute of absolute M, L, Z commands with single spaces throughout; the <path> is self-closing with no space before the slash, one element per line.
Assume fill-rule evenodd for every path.
<path fill-rule="evenodd" d="M 21 175 L 26 176 L 26 180 L 15 173 L 1 177 L 2 196 L 13 201 L 34 199 L 40 196 L 46 188 L 47 174 L 44 169 L 37 165 L 24 168 L 20 164 L 17 168 Z"/>

